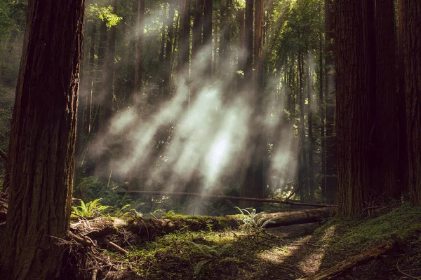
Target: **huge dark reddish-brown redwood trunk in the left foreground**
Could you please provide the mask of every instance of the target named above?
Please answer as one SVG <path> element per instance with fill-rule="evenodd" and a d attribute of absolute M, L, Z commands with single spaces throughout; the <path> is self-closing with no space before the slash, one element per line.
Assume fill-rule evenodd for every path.
<path fill-rule="evenodd" d="M 63 269 L 57 241 L 67 235 L 72 205 L 84 2 L 28 4 L 1 239 L 5 280 L 58 279 Z"/>

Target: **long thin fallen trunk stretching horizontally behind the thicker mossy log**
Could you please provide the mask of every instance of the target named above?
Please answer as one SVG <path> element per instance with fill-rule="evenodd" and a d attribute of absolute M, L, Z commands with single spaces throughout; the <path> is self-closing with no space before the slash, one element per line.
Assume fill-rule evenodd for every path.
<path fill-rule="evenodd" d="M 270 198 L 253 198 L 253 197 L 232 197 L 227 195 L 209 195 L 206 193 L 180 193 L 180 192 L 164 192 L 157 190 L 120 190 L 118 193 L 121 194 L 139 194 L 139 195 L 165 195 L 168 197 L 171 196 L 191 196 L 191 197 L 208 197 L 208 198 L 220 198 L 224 200 L 241 200 L 241 201 L 252 201 L 252 202 L 272 202 L 272 203 L 281 203 L 281 204 L 290 204 L 290 205 L 300 205 L 300 206 L 312 206 L 312 207 L 336 207 L 333 204 L 316 204 L 316 203 L 302 203 L 302 202 L 293 202 L 290 200 L 274 200 Z"/>

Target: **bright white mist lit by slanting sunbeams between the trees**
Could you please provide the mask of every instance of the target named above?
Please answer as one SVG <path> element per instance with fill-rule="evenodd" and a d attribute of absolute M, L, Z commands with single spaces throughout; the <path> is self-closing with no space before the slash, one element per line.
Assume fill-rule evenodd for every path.
<path fill-rule="evenodd" d="M 203 46 L 191 62 L 189 75 L 174 77 L 176 90 L 159 109 L 149 111 L 148 92 L 144 92 L 139 108 L 129 107 L 112 118 L 88 153 L 92 158 L 109 157 L 109 167 L 97 169 L 96 175 L 130 180 L 135 174 L 142 185 L 135 188 L 152 190 L 182 190 L 192 180 L 201 190 L 220 188 L 230 179 L 241 183 L 254 148 L 250 135 L 255 133 L 270 139 L 267 176 L 271 185 L 280 188 L 294 175 L 297 145 L 290 127 L 281 123 L 284 101 L 276 96 L 279 80 L 260 93 L 269 106 L 251 121 L 256 118 L 253 87 L 236 90 L 242 73 L 230 62 L 237 57 L 227 55 L 219 73 L 210 78 L 205 63 L 208 52 L 211 45 Z M 241 63 L 245 58 L 238 59 Z M 241 78 L 241 83 L 246 82 Z"/>

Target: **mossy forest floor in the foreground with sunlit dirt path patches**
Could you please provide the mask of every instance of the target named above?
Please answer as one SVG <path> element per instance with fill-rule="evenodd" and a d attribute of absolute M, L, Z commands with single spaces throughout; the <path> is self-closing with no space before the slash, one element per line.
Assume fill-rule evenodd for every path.
<path fill-rule="evenodd" d="M 90 267 L 88 260 L 79 278 L 92 279 L 100 267 L 97 279 L 421 279 L 421 209 L 407 204 L 323 225 L 208 229 L 181 228 L 153 241 L 126 234 L 123 243 L 132 244 L 124 246 L 126 254 L 101 251 L 102 263 Z M 121 244 L 121 235 L 107 238 Z M 388 240 L 396 246 L 333 276 L 316 277 Z"/>

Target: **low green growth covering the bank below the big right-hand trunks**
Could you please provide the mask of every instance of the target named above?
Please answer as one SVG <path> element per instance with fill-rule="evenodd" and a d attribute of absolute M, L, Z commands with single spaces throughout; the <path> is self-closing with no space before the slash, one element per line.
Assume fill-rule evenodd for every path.
<path fill-rule="evenodd" d="M 405 239 L 420 228 L 421 207 L 403 204 L 376 218 L 334 218 L 316 230 L 316 234 L 325 236 L 323 243 L 328 244 L 328 253 L 346 257 L 377 246 L 392 236 Z"/>

